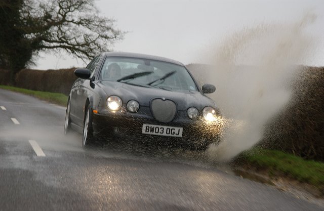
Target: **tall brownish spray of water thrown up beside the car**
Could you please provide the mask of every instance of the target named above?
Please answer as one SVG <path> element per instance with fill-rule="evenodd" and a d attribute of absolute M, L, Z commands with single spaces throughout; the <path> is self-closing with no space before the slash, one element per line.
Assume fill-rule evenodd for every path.
<path fill-rule="evenodd" d="M 258 143 L 266 122 L 290 100 L 287 84 L 297 64 L 310 56 L 313 39 L 306 33 L 316 16 L 292 24 L 259 25 L 228 36 L 209 53 L 208 80 L 217 86 L 212 98 L 224 118 L 223 140 L 208 154 L 227 161 Z"/>

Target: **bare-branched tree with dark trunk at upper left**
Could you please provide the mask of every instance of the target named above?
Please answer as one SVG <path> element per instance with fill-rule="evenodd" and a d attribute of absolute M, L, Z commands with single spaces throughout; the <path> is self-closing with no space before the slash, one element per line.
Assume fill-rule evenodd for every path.
<path fill-rule="evenodd" d="M 88 60 L 111 51 L 124 32 L 102 17 L 94 0 L 2 0 L 0 66 L 14 75 L 41 51 L 66 51 Z"/>

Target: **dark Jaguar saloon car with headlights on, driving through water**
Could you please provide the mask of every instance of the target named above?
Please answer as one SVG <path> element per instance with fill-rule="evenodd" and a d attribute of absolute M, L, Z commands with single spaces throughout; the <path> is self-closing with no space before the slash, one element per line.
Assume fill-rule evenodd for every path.
<path fill-rule="evenodd" d="M 139 138 L 206 149 L 219 141 L 221 117 L 182 63 L 167 58 L 104 52 L 74 71 L 64 133 L 83 134 L 83 146 L 96 137 Z"/>

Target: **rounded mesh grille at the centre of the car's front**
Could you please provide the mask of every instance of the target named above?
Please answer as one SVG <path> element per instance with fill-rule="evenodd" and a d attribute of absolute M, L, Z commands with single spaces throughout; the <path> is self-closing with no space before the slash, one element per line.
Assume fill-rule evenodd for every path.
<path fill-rule="evenodd" d="M 151 112 L 153 117 L 160 122 L 169 122 L 177 114 L 177 105 L 171 100 L 154 99 L 151 102 Z"/>

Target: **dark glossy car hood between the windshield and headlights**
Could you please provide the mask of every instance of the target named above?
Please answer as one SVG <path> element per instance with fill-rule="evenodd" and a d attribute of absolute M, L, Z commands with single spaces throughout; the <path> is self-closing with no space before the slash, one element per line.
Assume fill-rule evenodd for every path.
<path fill-rule="evenodd" d="M 196 107 L 198 110 L 206 106 L 215 107 L 215 103 L 210 98 L 200 92 L 193 91 L 167 91 L 158 88 L 146 88 L 117 81 L 100 81 L 99 87 L 107 96 L 116 95 L 123 103 L 129 100 L 136 100 L 141 106 L 150 106 L 150 101 L 154 98 L 165 98 L 177 103 L 178 110 L 187 110 L 189 107 Z"/>

